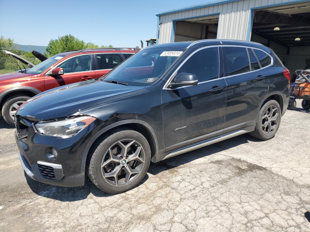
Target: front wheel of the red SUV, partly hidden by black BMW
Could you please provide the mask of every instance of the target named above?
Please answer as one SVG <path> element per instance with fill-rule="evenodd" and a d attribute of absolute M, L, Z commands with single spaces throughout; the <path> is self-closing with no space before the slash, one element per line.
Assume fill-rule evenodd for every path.
<path fill-rule="evenodd" d="M 12 97 L 9 97 L 3 104 L 1 114 L 8 124 L 11 126 L 15 126 L 14 123 L 14 112 L 16 111 L 16 108 L 23 104 L 25 101 L 27 101 L 30 97 L 25 95 L 14 95 Z"/>

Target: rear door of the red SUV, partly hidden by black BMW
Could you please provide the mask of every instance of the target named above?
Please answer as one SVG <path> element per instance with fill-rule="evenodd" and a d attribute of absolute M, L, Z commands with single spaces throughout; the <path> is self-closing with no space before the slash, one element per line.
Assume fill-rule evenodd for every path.
<path fill-rule="evenodd" d="M 106 75 L 114 67 L 124 60 L 121 53 L 98 53 L 95 54 L 96 78 Z"/>

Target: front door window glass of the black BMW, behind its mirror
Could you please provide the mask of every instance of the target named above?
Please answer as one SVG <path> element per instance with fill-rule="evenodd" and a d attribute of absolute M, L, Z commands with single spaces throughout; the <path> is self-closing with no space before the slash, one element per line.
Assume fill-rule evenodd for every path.
<path fill-rule="evenodd" d="M 178 70 L 195 74 L 198 82 L 219 77 L 219 50 L 218 47 L 202 49 L 193 54 Z"/>

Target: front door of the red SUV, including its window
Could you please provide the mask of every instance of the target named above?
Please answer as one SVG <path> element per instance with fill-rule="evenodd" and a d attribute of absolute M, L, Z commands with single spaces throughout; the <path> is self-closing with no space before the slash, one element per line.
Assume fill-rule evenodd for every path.
<path fill-rule="evenodd" d="M 93 79 L 95 78 L 94 66 L 93 54 L 82 54 L 65 59 L 56 66 L 63 68 L 64 74 L 57 77 L 46 75 L 44 78 L 45 88 L 48 90 L 66 84 Z M 51 73 L 51 71 L 48 73 Z"/>

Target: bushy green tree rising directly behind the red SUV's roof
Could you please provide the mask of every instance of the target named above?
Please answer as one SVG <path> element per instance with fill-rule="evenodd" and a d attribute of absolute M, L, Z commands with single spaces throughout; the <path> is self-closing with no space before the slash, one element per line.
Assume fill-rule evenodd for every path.
<path fill-rule="evenodd" d="M 58 37 L 58 39 L 50 40 L 45 49 L 45 55 L 49 55 L 50 57 L 56 55 L 58 53 L 69 51 L 69 50 L 77 50 L 77 49 L 85 49 L 86 45 L 83 40 L 79 40 L 75 38 L 73 35 L 65 35 L 62 37 Z"/>

